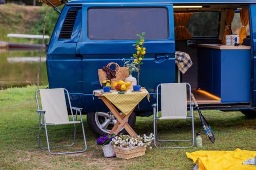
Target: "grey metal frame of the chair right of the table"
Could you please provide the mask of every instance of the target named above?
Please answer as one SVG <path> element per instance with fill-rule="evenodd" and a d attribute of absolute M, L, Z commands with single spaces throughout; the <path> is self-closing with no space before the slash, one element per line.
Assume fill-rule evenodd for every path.
<path fill-rule="evenodd" d="M 161 83 L 163 84 L 163 83 Z M 157 103 L 156 104 L 153 104 L 152 107 L 153 107 L 153 114 L 154 114 L 154 145 L 156 148 L 159 148 L 159 149 L 168 149 L 168 148 L 172 148 L 172 149 L 179 149 L 179 148 L 191 148 L 191 147 L 194 147 L 194 144 L 195 144 L 195 129 L 194 129 L 194 110 L 193 110 L 193 105 L 194 103 L 192 103 L 192 100 L 191 100 L 191 86 L 190 84 L 186 83 L 186 85 L 189 87 L 189 111 L 190 111 L 190 115 L 186 117 L 186 119 L 190 119 L 192 120 L 192 139 L 185 139 L 185 140 L 160 140 L 157 136 L 157 120 L 159 120 L 159 115 L 158 115 L 158 104 L 159 104 L 159 101 L 158 101 L 158 96 L 159 96 L 159 87 L 161 86 L 161 84 L 159 84 L 157 86 Z M 157 143 L 156 141 L 158 142 L 176 142 L 176 141 L 192 141 L 192 145 L 188 146 L 188 147 L 158 147 L 157 146 Z"/>

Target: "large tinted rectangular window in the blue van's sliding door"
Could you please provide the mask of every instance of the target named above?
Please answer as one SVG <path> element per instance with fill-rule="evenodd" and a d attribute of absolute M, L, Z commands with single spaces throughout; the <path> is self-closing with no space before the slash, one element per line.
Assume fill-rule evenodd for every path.
<path fill-rule="evenodd" d="M 146 39 L 169 37 L 166 8 L 90 8 L 88 38 L 92 40 L 136 39 L 146 33 Z"/>

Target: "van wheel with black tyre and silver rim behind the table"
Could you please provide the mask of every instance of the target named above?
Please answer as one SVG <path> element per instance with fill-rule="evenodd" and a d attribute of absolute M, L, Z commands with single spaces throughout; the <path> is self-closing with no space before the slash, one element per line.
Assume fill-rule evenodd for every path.
<path fill-rule="evenodd" d="M 122 113 L 120 113 L 122 114 Z M 133 112 L 127 121 L 131 127 L 134 127 L 136 122 L 136 114 Z M 87 123 L 89 128 L 99 136 L 106 136 L 117 123 L 117 119 L 112 112 L 89 112 L 87 113 Z M 124 128 L 120 133 L 125 134 Z M 120 134 L 119 133 L 119 134 Z"/>

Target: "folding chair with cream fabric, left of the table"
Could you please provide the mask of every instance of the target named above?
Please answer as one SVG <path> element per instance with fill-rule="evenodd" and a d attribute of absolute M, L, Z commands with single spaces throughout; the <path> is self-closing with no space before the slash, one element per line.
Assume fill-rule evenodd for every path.
<path fill-rule="evenodd" d="M 64 91 L 66 91 L 67 96 L 68 96 L 70 112 L 71 112 L 71 115 L 72 115 L 72 121 L 70 121 L 69 117 L 68 117 L 68 109 L 67 109 L 67 105 L 66 105 L 66 98 L 65 98 L 65 92 Z M 38 96 L 37 96 L 38 92 L 40 92 L 42 110 L 40 110 L 40 107 L 39 107 L 39 104 L 38 104 Z M 40 90 L 36 90 L 35 96 L 36 96 L 36 104 L 37 104 L 37 110 L 36 111 L 37 111 L 37 113 L 39 113 L 38 148 L 39 149 L 48 148 L 49 153 L 52 154 L 52 155 L 73 154 L 73 153 L 85 152 L 86 149 L 87 149 L 87 144 L 86 144 L 86 135 L 84 133 L 84 128 L 83 128 L 83 120 L 82 120 L 82 113 L 81 113 L 82 108 L 71 107 L 71 102 L 70 102 L 70 97 L 69 97 L 68 90 L 64 89 L 64 88 L 40 89 Z M 76 111 L 75 118 L 74 118 L 72 110 Z M 80 113 L 80 119 L 81 119 L 80 121 L 77 120 L 77 112 Z M 42 122 L 41 115 L 44 118 L 44 122 Z M 69 124 L 74 125 L 74 141 L 73 141 L 73 143 L 68 144 L 68 145 L 50 147 L 47 127 L 51 126 L 51 125 L 69 125 Z M 69 146 L 73 146 L 75 144 L 76 124 L 82 124 L 82 133 L 83 133 L 83 140 L 84 140 L 83 150 L 82 151 L 74 151 L 74 152 L 61 152 L 61 153 L 51 152 L 51 150 L 50 150 L 51 148 L 69 147 Z M 45 147 L 45 148 L 40 147 L 41 126 L 45 126 L 45 130 L 46 130 L 47 147 Z"/>

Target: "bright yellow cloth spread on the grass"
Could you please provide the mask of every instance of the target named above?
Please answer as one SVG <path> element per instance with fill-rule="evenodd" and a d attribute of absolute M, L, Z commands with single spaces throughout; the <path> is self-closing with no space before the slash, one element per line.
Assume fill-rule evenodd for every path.
<path fill-rule="evenodd" d="M 194 163 L 198 162 L 198 170 L 255 170 L 255 165 L 242 164 L 256 156 L 256 151 L 236 149 L 234 151 L 196 151 L 186 153 Z"/>

